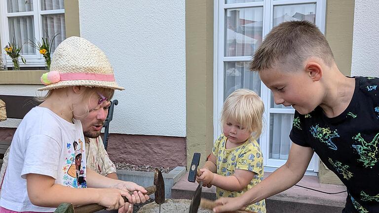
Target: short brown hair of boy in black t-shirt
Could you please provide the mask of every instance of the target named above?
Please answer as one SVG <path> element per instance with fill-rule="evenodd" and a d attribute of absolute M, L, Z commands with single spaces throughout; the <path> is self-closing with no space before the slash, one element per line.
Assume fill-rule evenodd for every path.
<path fill-rule="evenodd" d="M 308 21 L 283 22 L 267 34 L 250 62 L 250 70 L 263 71 L 277 64 L 298 68 L 309 57 L 320 58 L 329 67 L 334 62 L 329 43 L 317 26 Z"/>

